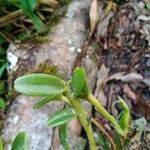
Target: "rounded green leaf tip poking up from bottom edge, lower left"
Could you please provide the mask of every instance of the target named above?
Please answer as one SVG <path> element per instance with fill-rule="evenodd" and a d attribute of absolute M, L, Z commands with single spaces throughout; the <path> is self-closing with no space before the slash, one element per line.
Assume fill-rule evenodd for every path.
<path fill-rule="evenodd" d="M 29 150 L 28 137 L 26 132 L 20 132 L 13 141 L 11 150 Z"/>

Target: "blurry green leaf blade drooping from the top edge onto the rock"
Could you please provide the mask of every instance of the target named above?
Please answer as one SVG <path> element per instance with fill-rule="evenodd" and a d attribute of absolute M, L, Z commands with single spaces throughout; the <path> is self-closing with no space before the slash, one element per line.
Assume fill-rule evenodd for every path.
<path fill-rule="evenodd" d="M 23 10 L 23 12 L 33 21 L 33 24 L 37 31 L 43 32 L 47 29 L 46 25 L 34 13 L 34 9 L 37 3 L 37 0 L 20 0 L 20 7 Z"/>

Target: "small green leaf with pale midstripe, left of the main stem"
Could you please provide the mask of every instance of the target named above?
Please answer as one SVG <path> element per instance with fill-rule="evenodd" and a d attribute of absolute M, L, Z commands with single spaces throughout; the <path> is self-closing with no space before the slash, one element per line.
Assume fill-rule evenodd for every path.
<path fill-rule="evenodd" d="M 77 114 L 73 108 L 62 109 L 55 112 L 52 116 L 49 117 L 48 125 L 52 127 L 60 126 L 72 120 L 76 116 Z"/>

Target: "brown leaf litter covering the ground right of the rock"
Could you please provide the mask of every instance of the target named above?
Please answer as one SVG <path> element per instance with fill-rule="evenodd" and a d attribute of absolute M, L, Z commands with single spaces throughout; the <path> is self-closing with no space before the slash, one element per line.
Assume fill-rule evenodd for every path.
<path fill-rule="evenodd" d="M 100 48 L 95 52 L 99 72 L 94 94 L 115 116 L 120 111 L 119 95 L 129 104 L 133 120 L 146 118 L 143 125 L 144 119 L 137 121 L 144 136 L 136 134 L 129 149 L 149 149 L 150 138 L 145 132 L 145 128 L 150 132 L 149 1 L 119 2 L 93 0 L 91 4 L 92 40 Z M 96 117 L 102 119 L 98 114 Z"/>

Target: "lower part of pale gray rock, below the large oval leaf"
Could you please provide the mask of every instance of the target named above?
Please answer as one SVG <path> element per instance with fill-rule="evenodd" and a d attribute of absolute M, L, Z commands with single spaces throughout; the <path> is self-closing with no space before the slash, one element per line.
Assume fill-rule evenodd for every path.
<path fill-rule="evenodd" d="M 18 96 L 7 111 L 1 132 L 2 139 L 7 143 L 5 149 L 11 149 L 11 142 L 18 132 L 26 131 L 30 139 L 30 149 L 48 150 L 51 146 L 53 129 L 48 127 L 47 119 L 55 111 L 63 108 L 63 103 L 46 105 L 39 110 L 32 108 L 39 98 Z"/>

